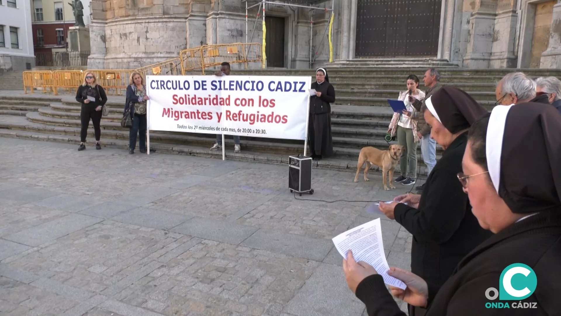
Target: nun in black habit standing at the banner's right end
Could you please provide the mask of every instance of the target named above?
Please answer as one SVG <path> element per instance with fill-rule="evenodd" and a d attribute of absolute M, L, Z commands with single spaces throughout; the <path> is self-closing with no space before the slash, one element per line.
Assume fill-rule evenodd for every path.
<path fill-rule="evenodd" d="M 325 69 L 316 71 L 316 82 L 312 83 L 316 93 L 310 97 L 310 118 L 308 123 L 308 140 L 313 159 L 333 155 L 331 136 L 331 105 L 335 102 L 335 89 L 329 83 Z"/>

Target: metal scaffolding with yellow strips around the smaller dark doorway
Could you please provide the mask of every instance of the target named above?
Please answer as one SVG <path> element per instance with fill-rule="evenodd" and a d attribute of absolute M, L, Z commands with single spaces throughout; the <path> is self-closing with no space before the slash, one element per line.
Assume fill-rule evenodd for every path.
<path fill-rule="evenodd" d="M 309 8 L 310 9 L 310 68 L 312 68 L 312 65 L 315 62 L 315 58 L 312 59 L 313 56 L 313 39 L 314 39 L 314 17 L 313 17 L 313 10 L 323 10 L 325 12 L 331 12 L 331 16 L 329 19 L 329 24 L 326 28 L 326 30 L 324 31 L 324 37 L 325 37 L 325 32 L 327 32 L 327 29 L 329 29 L 329 34 L 328 34 L 328 38 L 329 38 L 329 62 L 333 62 L 333 45 L 331 42 L 331 36 L 332 36 L 332 25 L 333 25 L 333 17 L 334 17 L 334 0 L 331 1 L 331 8 L 318 8 L 318 7 L 312 7 L 312 6 L 304 6 L 302 4 L 292 4 L 292 3 L 286 3 L 286 2 L 277 2 L 277 1 L 267 1 L 267 0 L 257 0 L 259 1 L 258 3 L 253 4 L 252 6 L 248 6 L 247 3 L 250 0 L 242 0 L 242 2 L 245 2 L 246 4 L 246 43 L 247 42 L 247 35 L 248 35 L 248 28 L 247 28 L 247 16 L 248 16 L 248 10 L 259 6 L 259 8 L 257 9 L 257 16 L 255 17 L 255 23 L 253 26 L 253 33 L 255 33 L 255 26 L 257 25 L 257 20 L 259 19 L 259 11 L 261 10 L 261 6 L 263 6 L 263 43 L 261 45 L 262 51 L 261 51 L 261 58 L 263 58 L 263 67 L 265 67 L 265 60 L 266 60 L 266 54 L 265 54 L 265 39 L 266 39 L 266 28 L 265 28 L 265 4 L 266 3 L 270 3 L 270 4 L 280 4 L 283 6 L 287 6 L 287 7 L 297 7 L 297 8 Z M 251 41 L 253 40 L 253 35 L 251 34 Z M 321 43 L 323 43 L 323 38 L 321 39 L 320 45 Z"/>

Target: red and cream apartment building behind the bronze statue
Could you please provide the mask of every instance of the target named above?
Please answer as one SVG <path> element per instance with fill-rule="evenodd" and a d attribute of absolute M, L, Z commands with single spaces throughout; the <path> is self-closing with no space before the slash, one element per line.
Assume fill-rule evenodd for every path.
<path fill-rule="evenodd" d="M 7 0 L 2 0 L 7 1 Z M 10 0 L 11 1 L 11 0 Z M 23 0 L 22 0 L 23 1 Z M 68 29 L 74 25 L 71 1 L 27 0 L 33 9 L 33 44 L 36 53 L 67 52 Z M 90 22 L 90 0 L 82 0 L 84 24 Z"/>

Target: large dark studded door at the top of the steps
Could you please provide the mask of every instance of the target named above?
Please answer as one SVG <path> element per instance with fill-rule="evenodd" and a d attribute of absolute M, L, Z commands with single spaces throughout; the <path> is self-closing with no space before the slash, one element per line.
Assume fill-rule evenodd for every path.
<path fill-rule="evenodd" d="M 358 0 L 356 57 L 435 56 L 442 0 Z"/>

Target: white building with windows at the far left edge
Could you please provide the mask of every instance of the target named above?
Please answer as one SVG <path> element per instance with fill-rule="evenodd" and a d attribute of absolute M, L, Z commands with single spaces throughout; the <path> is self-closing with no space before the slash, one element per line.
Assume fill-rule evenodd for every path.
<path fill-rule="evenodd" d="M 0 71 L 34 66 L 29 0 L 0 0 Z"/>

